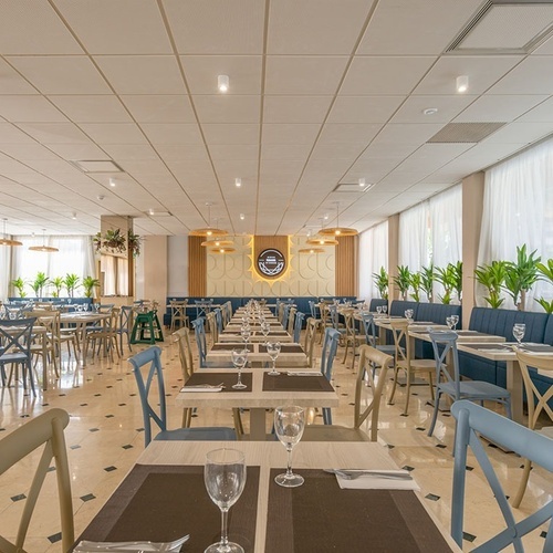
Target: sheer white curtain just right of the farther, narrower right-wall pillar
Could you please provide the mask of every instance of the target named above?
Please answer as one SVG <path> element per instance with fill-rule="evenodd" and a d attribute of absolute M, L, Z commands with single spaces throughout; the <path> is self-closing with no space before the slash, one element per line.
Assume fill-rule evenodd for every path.
<path fill-rule="evenodd" d="M 431 260 L 429 202 L 399 213 L 399 264 L 420 271 Z"/>

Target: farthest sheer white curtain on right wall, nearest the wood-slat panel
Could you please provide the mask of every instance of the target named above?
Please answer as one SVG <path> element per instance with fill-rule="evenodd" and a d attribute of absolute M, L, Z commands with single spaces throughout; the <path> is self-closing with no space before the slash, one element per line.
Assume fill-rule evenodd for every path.
<path fill-rule="evenodd" d="M 359 236 L 359 299 L 378 298 L 373 273 L 380 267 L 388 270 L 388 221 L 373 227 Z"/>

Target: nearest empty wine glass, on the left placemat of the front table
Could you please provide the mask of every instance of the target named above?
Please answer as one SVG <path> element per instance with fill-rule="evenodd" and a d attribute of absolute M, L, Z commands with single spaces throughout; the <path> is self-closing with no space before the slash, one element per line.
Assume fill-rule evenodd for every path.
<path fill-rule="evenodd" d="M 204 481 L 211 501 L 221 510 L 221 541 L 205 553 L 244 553 L 238 543 L 228 539 L 229 509 L 238 501 L 246 484 L 246 460 L 237 449 L 215 449 L 206 456 Z"/>

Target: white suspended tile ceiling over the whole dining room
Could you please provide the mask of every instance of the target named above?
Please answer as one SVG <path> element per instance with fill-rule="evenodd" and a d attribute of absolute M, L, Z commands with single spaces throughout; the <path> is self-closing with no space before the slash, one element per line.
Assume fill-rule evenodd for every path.
<path fill-rule="evenodd" d="M 293 234 L 337 208 L 367 229 L 553 133 L 553 12 L 524 4 L 1 0 L 0 218 Z M 490 133 L 439 139 L 459 123 Z"/>

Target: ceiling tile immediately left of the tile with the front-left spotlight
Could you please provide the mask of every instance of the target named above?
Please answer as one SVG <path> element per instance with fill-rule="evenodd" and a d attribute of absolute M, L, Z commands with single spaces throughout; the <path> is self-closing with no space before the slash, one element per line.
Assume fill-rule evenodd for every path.
<path fill-rule="evenodd" d="M 173 55 L 98 55 L 94 60 L 117 94 L 186 94 Z"/>

